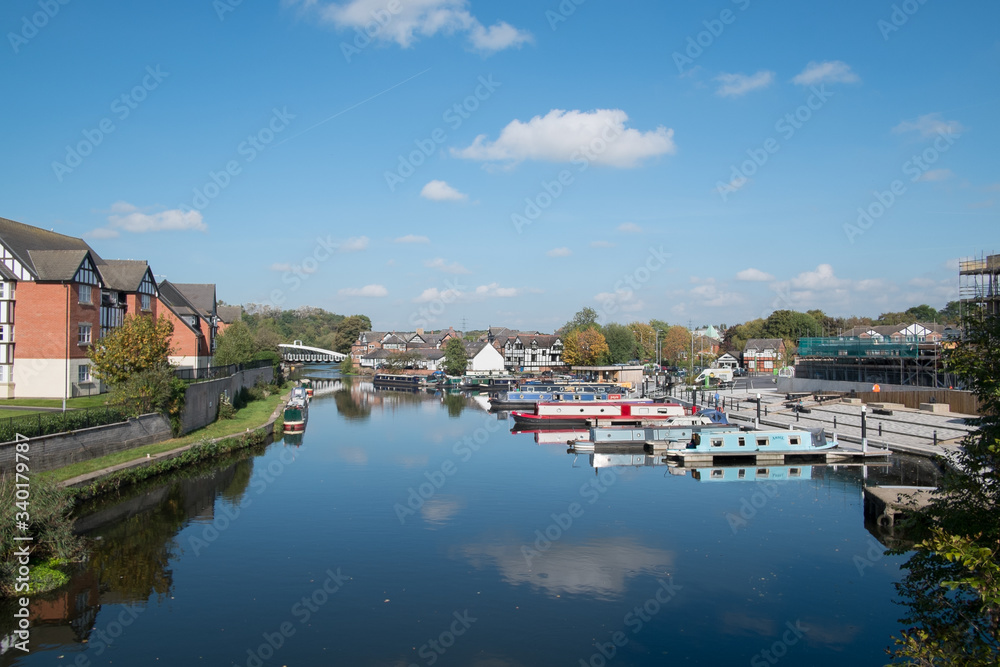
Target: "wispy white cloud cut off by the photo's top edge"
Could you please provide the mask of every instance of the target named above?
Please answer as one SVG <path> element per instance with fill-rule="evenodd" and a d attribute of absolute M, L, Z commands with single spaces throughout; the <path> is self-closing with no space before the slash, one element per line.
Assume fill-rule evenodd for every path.
<path fill-rule="evenodd" d="M 376 41 L 395 42 L 403 48 L 409 48 L 420 37 L 433 37 L 438 33 L 464 33 L 473 48 L 485 53 L 519 47 L 532 39 L 531 33 L 505 21 L 484 26 L 469 13 L 468 0 L 400 0 L 397 3 L 386 3 L 385 0 L 329 3 L 287 0 L 287 4 L 316 11 L 321 20 L 341 30 L 367 32 Z"/>

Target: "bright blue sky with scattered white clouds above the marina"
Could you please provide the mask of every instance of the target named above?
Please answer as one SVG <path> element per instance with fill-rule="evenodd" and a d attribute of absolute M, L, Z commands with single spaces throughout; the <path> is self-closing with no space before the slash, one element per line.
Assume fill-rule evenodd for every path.
<path fill-rule="evenodd" d="M 2 17 L 0 215 L 229 303 L 380 329 L 877 316 L 943 306 L 1000 245 L 995 2 Z"/>

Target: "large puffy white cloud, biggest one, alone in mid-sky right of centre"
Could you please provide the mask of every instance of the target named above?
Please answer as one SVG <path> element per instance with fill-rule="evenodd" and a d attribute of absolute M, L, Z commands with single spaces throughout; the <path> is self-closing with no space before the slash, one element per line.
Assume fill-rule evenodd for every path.
<path fill-rule="evenodd" d="M 589 163 L 619 168 L 638 166 L 643 160 L 672 154 L 674 131 L 662 125 L 649 132 L 626 128 L 628 114 L 621 109 L 563 111 L 553 109 L 528 122 L 513 120 L 496 141 L 481 134 L 451 154 L 469 160 L 518 163 L 522 160 Z"/>

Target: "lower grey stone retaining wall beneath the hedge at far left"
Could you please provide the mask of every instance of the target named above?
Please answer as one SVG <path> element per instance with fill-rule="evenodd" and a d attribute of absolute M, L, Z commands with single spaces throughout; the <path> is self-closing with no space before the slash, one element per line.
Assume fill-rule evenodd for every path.
<path fill-rule="evenodd" d="M 24 454 L 28 457 L 28 469 L 38 473 L 162 442 L 169 440 L 171 435 L 170 420 L 160 414 L 149 414 L 118 424 L 32 438 Z M 14 442 L 0 445 L 0 471 L 14 470 L 16 445 Z"/>

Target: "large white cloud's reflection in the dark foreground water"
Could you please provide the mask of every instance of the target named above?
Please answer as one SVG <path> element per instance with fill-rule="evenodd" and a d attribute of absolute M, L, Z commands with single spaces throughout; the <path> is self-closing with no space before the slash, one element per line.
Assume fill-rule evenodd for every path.
<path fill-rule="evenodd" d="M 471 544 L 462 548 L 462 554 L 477 568 L 495 564 L 511 584 L 531 584 L 549 595 L 592 595 L 605 600 L 625 592 L 626 578 L 643 573 L 666 574 L 674 562 L 673 553 L 629 539 L 596 540 L 582 545 L 556 542 L 532 558 L 530 565 L 520 544 Z"/>

